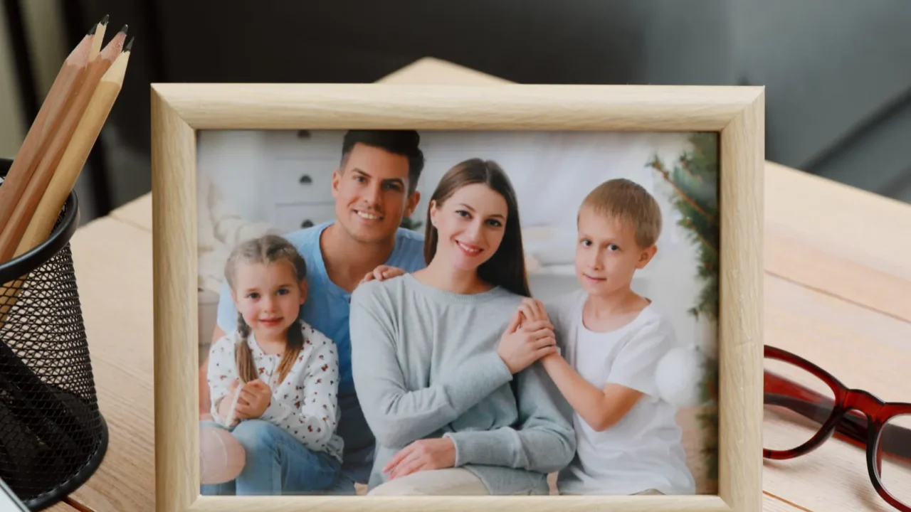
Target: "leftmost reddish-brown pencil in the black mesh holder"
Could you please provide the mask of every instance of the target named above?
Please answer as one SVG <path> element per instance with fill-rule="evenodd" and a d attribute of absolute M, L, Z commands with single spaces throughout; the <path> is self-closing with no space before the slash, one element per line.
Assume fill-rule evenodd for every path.
<path fill-rule="evenodd" d="M 0 231 L 9 224 L 17 199 L 26 189 L 28 181 L 35 172 L 36 165 L 46 148 L 49 136 L 53 135 L 60 124 L 60 118 L 66 113 L 67 101 L 79 90 L 85 79 L 88 56 L 91 50 L 92 28 L 82 41 L 73 48 L 54 79 L 47 97 L 38 110 L 38 115 L 26 133 L 26 139 L 19 148 L 13 165 L 6 173 L 3 186 L 0 187 Z M 5 261 L 0 257 L 0 262 Z"/>

